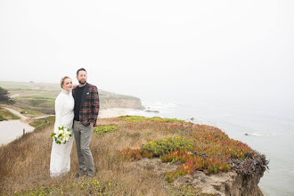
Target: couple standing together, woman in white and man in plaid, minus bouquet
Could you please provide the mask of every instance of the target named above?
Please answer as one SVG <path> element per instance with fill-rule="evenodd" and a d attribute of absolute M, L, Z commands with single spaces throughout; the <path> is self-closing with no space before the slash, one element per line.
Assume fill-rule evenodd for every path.
<path fill-rule="evenodd" d="M 86 78 L 86 69 L 78 69 L 79 85 L 75 89 L 72 89 L 69 77 L 61 78 L 61 94 L 55 100 L 54 130 L 68 127 L 70 134 L 75 136 L 79 167 L 77 177 L 93 177 L 95 171 L 89 145 L 99 112 L 99 94 L 97 87 L 87 83 Z M 73 137 L 67 143 L 58 144 L 53 141 L 50 176 L 61 176 L 69 172 L 72 143 Z"/>

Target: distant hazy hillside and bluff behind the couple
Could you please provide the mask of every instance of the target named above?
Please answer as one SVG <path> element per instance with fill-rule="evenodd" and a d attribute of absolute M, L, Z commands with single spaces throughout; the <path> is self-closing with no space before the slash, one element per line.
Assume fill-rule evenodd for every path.
<path fill-rule="evenodd" d="M 40 116 L 37 112 L 54 114 L 54 100 L 61 92 L 59 84 L 0 82 L 0 86 L 7 89 L 10 96 L 14 98 L 16 108 L 29 110 L 33 116 L 34 114 Z M 114 94 L 102 89 L 99 89 L 99 95 L 101 110 L 109 108 L 142 109 L 141 100 L 134 96 Z"/>

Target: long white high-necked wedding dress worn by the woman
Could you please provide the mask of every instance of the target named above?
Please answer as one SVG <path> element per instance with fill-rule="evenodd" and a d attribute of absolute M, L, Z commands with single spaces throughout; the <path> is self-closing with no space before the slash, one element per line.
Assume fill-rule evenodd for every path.
<path fill-rule="evenodd" d="M 73 143 L 72 123 L 74 118 L 74 99 L 71 92 L 61 90 L 55 100 L 55 124 L 54 130 L 58 127 L 68 127 L 72 135 L 69 142 L 57 144 L 53 141 L 50 159 L 50 176 L 61 176 L 70 170 L 70 152 Z"/>

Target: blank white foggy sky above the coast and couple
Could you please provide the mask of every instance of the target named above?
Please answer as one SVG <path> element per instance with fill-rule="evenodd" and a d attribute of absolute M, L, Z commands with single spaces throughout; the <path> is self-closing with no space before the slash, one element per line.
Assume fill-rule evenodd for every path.
<path fill-rule="evenodd" d="M 294 2 L 0 1 L 0 81 L 293 106 Z"/>

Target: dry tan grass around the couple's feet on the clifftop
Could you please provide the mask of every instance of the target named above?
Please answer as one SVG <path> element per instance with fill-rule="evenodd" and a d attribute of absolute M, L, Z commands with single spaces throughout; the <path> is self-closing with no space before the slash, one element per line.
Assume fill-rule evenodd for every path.
<path fill-rule="evenodd" d="M 108 195 L 170 195 L 170 187 L 164 176 L 155 174 L 150 169 L 134 171 L 132 163 L 122 159 L 118 154 L 118 150 L 138 148 L 147 141 L 164 138 L 167 135 L 152 131 L 149 127 L 140 130 L 128 128 L 124 126 L 122 119 L 117 118 L 100 119 L 99 124 L 116 125 L 118 130 L 105 135 L 93 135 L 90 148 L 94 156 L 96 176 L 89 181 L 111 180 L 111 184 L 115 185 L 108 187 Z M 75 143 L 71 152 L 70 172 L 58 178 L 49 176 L 52 130 L 53 126 L 45 127 L 0 147 L 0 194 L 26 194 L 31 189 L 53 186 L 53 191 L 49 193 L 51 195 L 58 194 L 60 190 L 64 195 L 92 195 L 86 190 L 81 191 L 79 186 L 72 185 L 87 181 L 74 177 L 78 172 Z"/>

